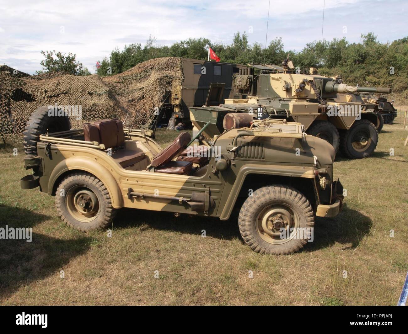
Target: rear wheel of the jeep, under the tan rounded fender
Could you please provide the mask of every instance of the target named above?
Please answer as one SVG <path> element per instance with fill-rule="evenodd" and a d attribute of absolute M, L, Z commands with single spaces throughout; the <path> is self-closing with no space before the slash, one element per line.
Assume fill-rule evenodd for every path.
<path fill-rule="evenodd" d="M 82 232 L 106 227 L 116 214 L 104 184 L 88 173 L 74 173 L 62 179 L 55 207 L 65 223 Z"/>

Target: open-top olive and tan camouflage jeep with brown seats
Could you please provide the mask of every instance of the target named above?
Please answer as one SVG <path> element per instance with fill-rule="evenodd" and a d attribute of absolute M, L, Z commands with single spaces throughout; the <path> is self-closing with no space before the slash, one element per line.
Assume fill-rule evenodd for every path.
<path fill-rule="evenodd" d="M 27 122 L 24 164 L 33 174 L 21 187 L 55 196 L 58 215 L 78 230 L 108 226 L 123 207 L 221 220 L 240 207 L 248 246 L 290 254 L 313 241 L 315 216 L 341 209 L 333 146 L 300 123 L 255 121 L 208 142 L 183 132 L 162 149 L 151 132 L 124 129 L 118 119 L 70 129 L 66 115 L 47 111 Z"/>

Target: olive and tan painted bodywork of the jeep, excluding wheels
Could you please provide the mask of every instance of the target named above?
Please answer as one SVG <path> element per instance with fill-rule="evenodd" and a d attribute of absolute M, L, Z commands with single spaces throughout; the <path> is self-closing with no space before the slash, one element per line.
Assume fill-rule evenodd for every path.
<path fill-rule="evenodd" d="M 84 171 L 106 186 L 113 208 L 225 220 L 230 217 L 239 194 L 248 191 L 243 188 L 245 182 L 262 176 L 259 186 L 267 185 L 266 182 L 286 184 L 290 180 L 290 185 L 303 191 L 315 210 L 321 204 L 333 204 L 333 147 L 323 139 L 302 133 L 299 123 L 257 122 L 261 125 L 232 128 L 215 137 L 211 142 L 214 152 L 210 151 L 208 164 L 200 176 L 158 173 L 149 168 L 161 148 L 140 133 L 128 131 L 124 142 L 126 149 L 143 150 L 146 155 L 133 170 L 123 168 L 109 154 L 109 149 L 104 150 L 97 142 L 78 146 L 81 140 L 42 135 L 37 143 L 38 156 L 25 161 L 27 168 L 33 168 L 34 176 L 22 180 L 22 186 L 28 188 L 38 183 L 42 192 L 59 196 L 56 190 L 61 180 L 70 173 Z M 33 181 L 34 178 L 38 181 Z M 304 188 L 299 189 L 298 184 Z"/>

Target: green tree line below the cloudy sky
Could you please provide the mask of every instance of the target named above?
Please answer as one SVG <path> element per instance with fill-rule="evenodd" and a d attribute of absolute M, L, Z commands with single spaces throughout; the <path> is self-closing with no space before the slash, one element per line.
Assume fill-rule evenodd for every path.
<path fill-rule="evenodd" d="M 282 38 L 271 40 L 266 48 L 258 42 L 250 44 L 245 32 L 235 33 L 231 44 L 213 43 L 207 38 L 188 38 L 171 46 L 162 46 L 150 36 L 144 46 L 133 43 L 125 45 L 123 49 L 111 51 L 109 57 L 98 60 L 100 66 L 96 73 L 100 76 L 122 73 L 141 62 L 159 57 L 207 60 L 208 46 L 211 46 L 222 62 L 280 65 L 289 55 L 293 64 L 300 69 L 316 67 L 319 74 L 340 75 L 351 85 L 388 86 L 395 93 L 403 93 L 408 98 L 408 37 L 381 43 L 372 32 L 362 34 L 358 43 L 350 43 L 346 38 L 333 38 L 331 41 L 309 42 L 301 51 L 286 50 Z M 55 61 L 52 61 L 52 55 L 48 52 L 44 53 L 46 59 L 41 64 L 44 70 L 54 71 L 58 66 L 55 66 Z M 89 74 L 81 63 L 76 63 L 72 71 L 72 66 L 67 65 L 72 63 L 72 54 L 69 56 L 70 62 L 60 62 L 71 74 Z M 75 55 L 73 62 L 75 64 Z"/>

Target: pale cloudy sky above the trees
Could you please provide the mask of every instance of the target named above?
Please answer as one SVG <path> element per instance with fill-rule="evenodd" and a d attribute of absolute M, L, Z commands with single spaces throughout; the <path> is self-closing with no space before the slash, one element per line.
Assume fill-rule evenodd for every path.
<path fill-rule="evenodd" d="M 268 41 L 282 37 L 301 50 L 322 37 L 324 0 L 271 0 Z M 407 0 L 326 0 L 323 38 L 360 41 L 373 31 L 381 42 L 408 36 Z M 171 45 L 189 37 L 231 42 L 246 31 L 265 43 L 268 0 L 11 1 L 0 0 L 0 64 L 33 74 L 41 50 L 72 52 L 91 72 L 115 47 L 146 42 Z"/>

